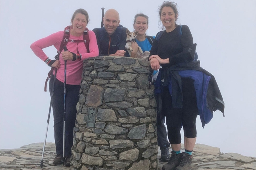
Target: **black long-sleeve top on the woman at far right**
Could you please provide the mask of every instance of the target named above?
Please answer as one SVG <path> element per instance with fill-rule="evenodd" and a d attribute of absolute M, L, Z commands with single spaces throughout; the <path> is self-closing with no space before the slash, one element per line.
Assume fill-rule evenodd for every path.
<path fill-rule="evenodd" d="M 169 58 L 170 63 L 161 64 L 162 68 L 191 61 L 190 53 L 183 51 L 183 48 L 193 45 L 193 37 L 188 26 L 182 26 L 182 35 L 180 34 L 180 26 L 169 33 L 164 31 L 159 40 L 157 40 L 158 34 L 156 34 L 154 44 L 150 50 L 150 56 L 158 55 L 162 59 Z"/>

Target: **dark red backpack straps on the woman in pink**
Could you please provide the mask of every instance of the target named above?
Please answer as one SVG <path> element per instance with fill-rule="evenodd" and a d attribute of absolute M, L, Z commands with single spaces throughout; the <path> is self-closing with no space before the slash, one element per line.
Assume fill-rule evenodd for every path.
<path fill-rule="evenodd" d="M 60 55 L 60 52 L 62 52 L 64 46 L 66 46 L 68 44 L 68 42 L 84 42 L 85 44 L 85 47 L 87 49 L 87 52 L 90 52 L 90 49 L 89 49 L 89 44 L 90 44 L 90 39 L 89 39 L 89 34 L 88 34 L 88 28 L 85 28 L 84 30 L 84 33 L 83 33 L 83 38 L 84 40 L 70 40 L 69 39 L 69 36 L 70 36 L 70 30 L 73 28 L 73 26 L 67 26 L 65 29 L 64 29 L 64 35 L 63 35 L 63 38 L 62 38 L 62 41 L 60 43 L 60 49 L 57 51 L 57 55 L 55 56 L 55 59 L 56 60 L 59 60 L 59 55 Z M 48 73 L 48 76 L 46 78 L 46 81 L 44 83 L 44 91 L 46 91 L 47 89 L 47 82 L 48 80 L 50 79 L 52 73 L 53 73 L 53 70 L 55 68 L 52 67 L 51 70 L 49 71 Z M 56 76 L 56 75 L 55 75 Z"/>

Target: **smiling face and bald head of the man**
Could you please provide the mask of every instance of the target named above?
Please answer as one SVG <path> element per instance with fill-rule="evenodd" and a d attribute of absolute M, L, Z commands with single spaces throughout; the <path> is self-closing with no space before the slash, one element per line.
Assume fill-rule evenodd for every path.
<path fill-rule="evenodd" d="M 103 17 L 103 24 L 108 35 L 112 35 L 116 31 L 119 23 L 119 14 L 116 10 L 110 9 L 106 11 L 105 16 Z"/>

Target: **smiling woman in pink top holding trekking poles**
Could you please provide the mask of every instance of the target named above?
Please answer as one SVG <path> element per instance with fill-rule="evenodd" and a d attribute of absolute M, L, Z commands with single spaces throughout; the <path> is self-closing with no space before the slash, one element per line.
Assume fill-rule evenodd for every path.
<path fill-rule="evenodd" d="M 60 49 L 60 44 L 63 39 L 64 31 L 59 31 L 52 35 L 42 38 L 33 44 L 30 48 L 33 52 L 50 67 L 57 69 L 57 74 L 52 75 L 49 82 L 50 94 L 54 77 L 54 93 L 52 98 L 53 117 L 54 117 L 54 138 L 56 145 L 57 156 L 53 160 L 54 165 L 59 165 L 63 160 L 63 111 L 64 111 L 64 61 L 66 61 L 66 94 L 65 94 L 65 165 L 70 166 L 71 147 L 73 145 L 73 128 L 76 119 L 76 104 L 79 100 L 79 90 L 82 75 L 83 60 L 88 57 L 98 56 L 98 46 L 95 33 L 88 31 L 90 44 L 89 52 L 86 49 L 84 42 L 75 40 L 84 40 L 83 33 L 89 22 L 89 15 L 84 9 L 78 9 L 74 12 L 71 18 L 73 26 L 70 29 L 70 36 L 66 44 L 68 51 L 60 51 L 59 60 L 50 60 L 43 52 L 43 48 L 54 46 L 57 50 Z"/>

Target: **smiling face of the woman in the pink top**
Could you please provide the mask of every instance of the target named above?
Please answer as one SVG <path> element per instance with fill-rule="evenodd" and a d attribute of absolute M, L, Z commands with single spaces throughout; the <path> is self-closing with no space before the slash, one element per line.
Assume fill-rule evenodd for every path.
<path fill-rule="evenodd" d="M 87 18 L 85 15 L 77 13 L 71 23 L 73 26 L 71 34 L 74 36 L 81 36 L 87 26 Z"/>

